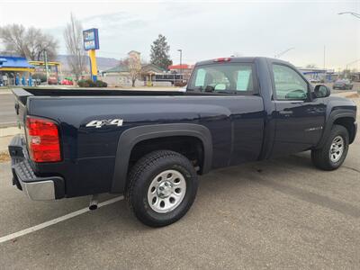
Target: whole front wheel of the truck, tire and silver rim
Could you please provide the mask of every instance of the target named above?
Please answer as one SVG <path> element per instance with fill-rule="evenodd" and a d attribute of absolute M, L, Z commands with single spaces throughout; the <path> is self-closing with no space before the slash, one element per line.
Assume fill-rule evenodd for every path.
<path fill-rule="evenodd" d="M 312 163 L 327 171 L 337 169 L 347 157 L 348 141 L 347 129 L 334 125 L 324 146 L 311 151 Z"/>

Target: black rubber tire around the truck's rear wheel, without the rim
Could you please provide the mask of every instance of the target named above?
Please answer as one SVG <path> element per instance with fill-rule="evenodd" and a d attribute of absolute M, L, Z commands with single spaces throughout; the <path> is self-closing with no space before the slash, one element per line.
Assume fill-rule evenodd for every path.
<path fill-rule="evenodd" d="M 148 202 L 148 189 L 154 178 L 166 170 L 184 176 L 186 190 L 180 204 L 172 211 L 154 211 Z M 189 159 L 170 150 L 158 150 L 141 157 L 131 168 L 126 199 L 130 210 L 145 225 L 163 227 L 181 219 L 190 209 L 197 192 L 197 175 Z"/>

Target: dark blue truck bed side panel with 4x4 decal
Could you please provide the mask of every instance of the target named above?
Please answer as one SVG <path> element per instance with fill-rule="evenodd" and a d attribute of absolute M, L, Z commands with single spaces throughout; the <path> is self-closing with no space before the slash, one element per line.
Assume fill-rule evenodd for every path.
<path fill-rule="evenodd" d="M 151 127 L 153 133 L 156 127 L 169 125 L 186 132 L 184 125 L 203 126 L 211 140 L 213 168 L 257 160 L 263 146 L 264 102 L 259 95 L 29 88 L 14 89 L 14 95 L 21 125 L 29 115 L 57 122 L 63 161 L 34 163 L 32 168 L 40 176 L 56 173 L 66 179 L 67 197 L 122 193 L 122 185 L 112 187 L 112 178 L 124 179 L 114 176 L 115 164 L 120 164 L 117 153 L 127 157 L 118 150 L 125 145 L 119 141 L 124 132 L 137 127 Z M 89 127 L 90 122 L 103 120 L 121 120 L 121 125 Z M 237 139 L 231 140 L 232 135 Z"/>

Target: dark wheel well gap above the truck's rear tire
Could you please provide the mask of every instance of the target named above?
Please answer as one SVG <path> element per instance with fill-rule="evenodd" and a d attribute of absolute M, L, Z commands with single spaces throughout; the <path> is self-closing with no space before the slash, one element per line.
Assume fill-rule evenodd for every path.
<path fill-rule="evenodd" d="M 172 150 L 184 155 L 193 166 L 199 167 L 198 173 L 202 174 L 204 159 L 202 140 L 192 136 L 170 136 L 139 141 L 131 149 L 128 169 L 130 170 L 139 158 L 155 150 Z"/>

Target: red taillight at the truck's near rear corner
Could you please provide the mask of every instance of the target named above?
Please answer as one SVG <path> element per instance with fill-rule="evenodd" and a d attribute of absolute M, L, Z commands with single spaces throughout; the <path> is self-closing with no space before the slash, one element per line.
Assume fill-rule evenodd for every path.
<path fill-rule="evenodd" d="M 30 157 L 35 162 L 61 160 L 58 126 L 55 122 L 28 116 L 26 135 Z"/>

